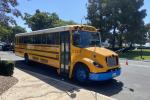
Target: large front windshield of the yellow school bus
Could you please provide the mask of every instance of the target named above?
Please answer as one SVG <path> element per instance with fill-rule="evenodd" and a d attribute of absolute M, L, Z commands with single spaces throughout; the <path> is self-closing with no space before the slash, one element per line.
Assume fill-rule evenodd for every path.
<path fill-rule="evenodd" d="M 100 46 L 100 34 L 97 32 L 75 31 L 73 33 L 73 44 L 81 48 Z"/>

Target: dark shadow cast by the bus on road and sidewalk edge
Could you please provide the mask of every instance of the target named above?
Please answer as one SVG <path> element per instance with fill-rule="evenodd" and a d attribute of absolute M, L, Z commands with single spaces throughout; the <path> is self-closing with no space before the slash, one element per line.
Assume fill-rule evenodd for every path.
<path fill-rule="evenodd" d="M 90 82 L 89 84 L 86 84 L 84 86 L 83 85 L 79 86 L 76 82 L 72 80 L 63 79 L 62 77 L 57 75 L 56 70 L 46 65 L 42 65 L 35 62 L 31 62 L 30 65 L 26 65 L 23 61 L 16 61 L 15 67 L 48 83 L 51 86 L 54 86 L 59 90 L 65 91 L 71 98 L 75 98 L 76 97 L 75 92 L 79 92 L 81 88 L 85 88 L 87 90 L 94 91 L 96 93 L 100 93 L 106 96 L 113 96 L 122 91 L 124 85 L 123 82 L 113 79 L 109 82 Z M 43 77 L 41 77 L 41 75 L 43 75 Z M 56 80 L 53 80 L 52 82 L 50 81 L 50 77 Z M 70 83 L 72 85 L 70 86 L 68 84 L 58 85 L 57 80 L 65 81 L 66 83 Z M 78 85 L 80 88 L 79 87 L 77 88 L 74 85 Z"/>

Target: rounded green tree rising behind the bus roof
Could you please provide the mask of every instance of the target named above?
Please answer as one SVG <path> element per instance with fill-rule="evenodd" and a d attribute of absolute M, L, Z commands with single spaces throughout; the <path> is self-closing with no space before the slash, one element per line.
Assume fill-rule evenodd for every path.
<path fill-rule="evenodd" d="M 32 31 L 75 24 L 73 21 L 60 19 L 56 13 L 41 12 L 40 10 L 36 10 L 34 15 L 26 13 L 24 19 Z"/>

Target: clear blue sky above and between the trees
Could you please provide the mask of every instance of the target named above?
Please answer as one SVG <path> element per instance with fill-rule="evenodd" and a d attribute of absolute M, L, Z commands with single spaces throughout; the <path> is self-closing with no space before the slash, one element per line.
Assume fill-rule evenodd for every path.
<path fill-rule="evenodd" d="M 77 23 L 87 15 L 86 3 L 88 0 L 18 0 L 17 7 L 22 13 L 35 13 L 36 9 L 46 12 L 56 12 L 61 19 L 73 20 Z M 143 9 L 147 10 L 145 23 L 150 22 L 150 0 L 144 0 Z M 21 18 L 16 18 L 18 25 L 27 28 Z M 85 20 L 83 20 L 85 22 Z M 27 29 L 29 31 L 29 29 Z"/>

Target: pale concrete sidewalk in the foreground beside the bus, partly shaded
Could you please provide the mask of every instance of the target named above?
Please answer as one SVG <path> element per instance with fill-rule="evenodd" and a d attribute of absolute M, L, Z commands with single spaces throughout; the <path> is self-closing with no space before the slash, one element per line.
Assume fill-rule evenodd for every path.
<path fill-rule="evenodd" d="M 15 68 L 14 77 L 19 81 L 0 96 L 0 100 L 114 100 L 93 91 L 41 74 L 34 76 Z M 46 79 L 47 82 L 40 79 Z"/>

